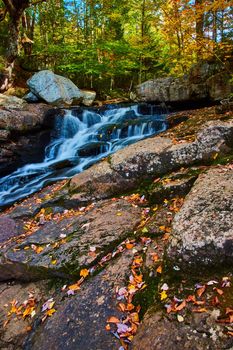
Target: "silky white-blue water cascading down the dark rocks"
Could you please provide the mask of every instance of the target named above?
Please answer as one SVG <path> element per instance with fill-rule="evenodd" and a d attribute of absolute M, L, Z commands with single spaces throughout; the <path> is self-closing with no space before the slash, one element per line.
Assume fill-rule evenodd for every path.
<path fill-rule="evenodd" d="M 108 106 L 98 112 L 66 110 L 57 116 L 42 163 L 28 164 L 0 179 L 0 207 L 48 183 L 70 178 L 99 159 L 166 130 L 165 111 L 156 106 Z"/>

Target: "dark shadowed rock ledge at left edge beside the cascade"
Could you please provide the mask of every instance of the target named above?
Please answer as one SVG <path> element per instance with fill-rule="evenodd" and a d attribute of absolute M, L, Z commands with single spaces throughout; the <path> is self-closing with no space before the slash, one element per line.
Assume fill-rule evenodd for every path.
<path fill-rule="evenodd" d="M 30 105 L 13 96 L 1 96 L 0 174 L 5 175 L 27 162 L 43 159 L 56 110 L 46 104 Z"/>

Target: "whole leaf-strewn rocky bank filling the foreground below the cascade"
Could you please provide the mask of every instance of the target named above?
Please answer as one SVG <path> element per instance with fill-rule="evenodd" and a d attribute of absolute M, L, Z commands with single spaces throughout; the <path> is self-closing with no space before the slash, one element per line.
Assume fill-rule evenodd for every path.
<path fill-rule="evenodd" d="M 233 348 L 233 114 L 173 115 L 0 214 L 0 348 Z"/>

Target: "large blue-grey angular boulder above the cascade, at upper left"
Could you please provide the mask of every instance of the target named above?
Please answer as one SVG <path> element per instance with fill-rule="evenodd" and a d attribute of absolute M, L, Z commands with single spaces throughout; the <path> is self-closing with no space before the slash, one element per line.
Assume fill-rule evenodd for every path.
<path fill-rule="evenodd" d="M 51 104 L 68 104 L 73 100 L 80 100 L 82 93 L 68 78 L 54 74 L 50 70 L 43 70 L 34 74 L 27 85 L 37 97 Z"/>

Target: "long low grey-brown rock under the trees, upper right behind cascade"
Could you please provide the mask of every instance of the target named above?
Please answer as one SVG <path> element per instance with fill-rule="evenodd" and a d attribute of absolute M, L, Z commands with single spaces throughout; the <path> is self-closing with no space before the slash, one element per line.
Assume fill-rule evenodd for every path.
<path fill-rule="evenodd" d="M 229 73 L 208 63 L 194 66 L 189 75 L 181 78 L 148 80 L 137 87 L 142 101 L 180 103 L 185 101 L 220 101 L 233 91 Z"/>

